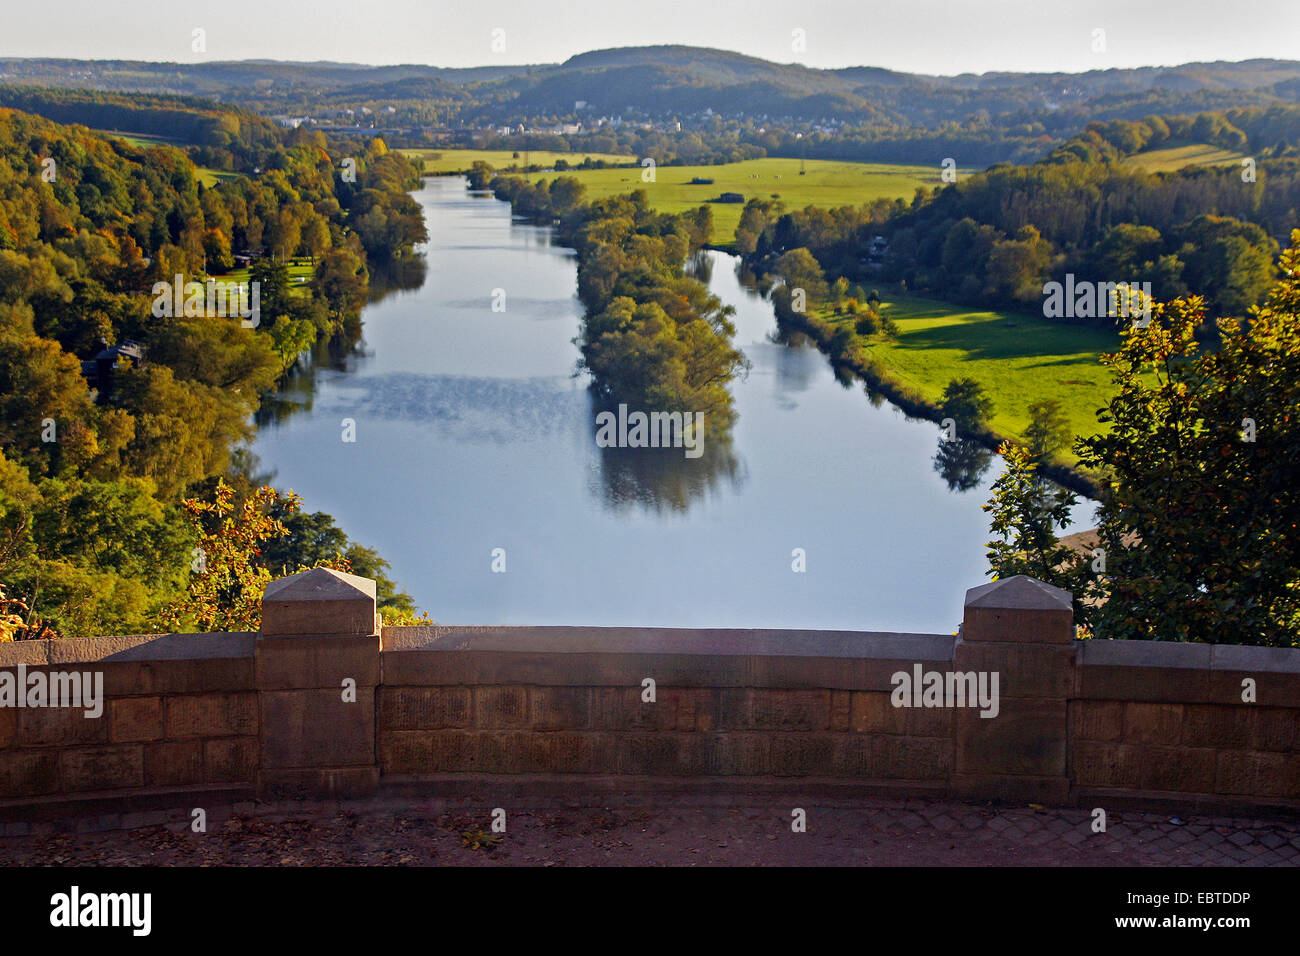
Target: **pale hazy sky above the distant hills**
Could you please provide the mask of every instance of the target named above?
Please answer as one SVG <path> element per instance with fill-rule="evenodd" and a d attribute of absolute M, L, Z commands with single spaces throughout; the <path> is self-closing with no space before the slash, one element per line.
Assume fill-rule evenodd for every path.
<path fill-rule="evenodd" d="M 0 0 L 0 56 L 477 66 L 684 43 L 915 73 L 1300 60 L 1300 0 Z M 191 31 L 207 31 L 207 52 Z M 493 30 L 504 31 L 494 52 Z M 806 48 L 792 48 L 802 30 Z M 1105 31 L 1105 52 L 1093 31 Z"/>

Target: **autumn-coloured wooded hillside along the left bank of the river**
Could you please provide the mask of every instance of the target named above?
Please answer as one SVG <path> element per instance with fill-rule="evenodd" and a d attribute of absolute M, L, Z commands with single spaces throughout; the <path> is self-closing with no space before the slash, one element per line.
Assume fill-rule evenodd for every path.
<path fill-rule="evenodd" d="M 205 161 L 247 174 L 204 189 L 178 148 L 0 109 L 5 636 L 234 626 L 196 596 L 234 607 L 243 584 L 321 559 L 378 572 L 385 602 L 411 610 L 328 515 L 257 492 L 240 446 L 302 352 L 355 334 L 369 269 L 424 238 L 417 170 L 378 139 L 344 153 L 256 117 L 194 122 Z M 260 282 L 256 323 L 155 313 L 155 282 L 220 278 L 237 254 Z M 306 286 L 294 258 L 313 267 Z M 107 346 L 109 377 L 87 377 Z"/>

